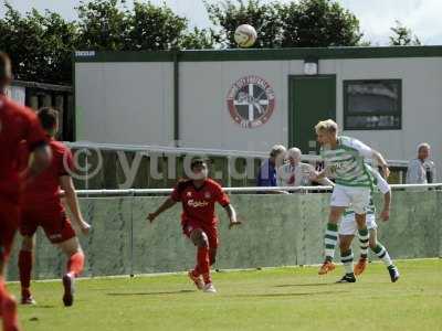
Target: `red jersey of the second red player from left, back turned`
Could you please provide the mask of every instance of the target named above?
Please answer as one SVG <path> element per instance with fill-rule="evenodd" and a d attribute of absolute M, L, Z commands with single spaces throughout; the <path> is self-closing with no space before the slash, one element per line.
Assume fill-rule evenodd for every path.
<path fill-rule="evenodd" d="M 49 138 L 52 150 L 51 164 L 29 183 L 23 192 L 23 206 L 61 205 L 60 177 L 69 175 L 73 169 L 71 150 L 60 141 Z"/>

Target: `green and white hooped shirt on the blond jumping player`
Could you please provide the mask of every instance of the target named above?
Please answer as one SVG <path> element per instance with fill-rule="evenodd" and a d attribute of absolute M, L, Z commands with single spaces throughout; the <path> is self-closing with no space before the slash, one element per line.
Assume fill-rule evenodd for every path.
<path fill-rule="evenodd" d="M 371 175 L 364 159 L 372 158 L 372 149 L 364 142 L 345 136 L 338 137 L 335 149 L 320 149 L 320 157 L 335 177 L 336 184 L 371 188 Z"/>

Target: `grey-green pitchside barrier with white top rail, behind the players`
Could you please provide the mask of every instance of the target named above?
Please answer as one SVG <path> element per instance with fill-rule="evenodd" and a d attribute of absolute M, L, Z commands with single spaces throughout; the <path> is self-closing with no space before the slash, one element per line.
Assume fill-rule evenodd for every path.
<path fill-rule="evenodd" d="M 324 190 L 330 189 L 225 188 L 232 193 L 232 204 L 243 224 L 238 231 L 229 231 L 225 212 L 217 206 L 221 246 L 215 267 L 229 269 L 320 263 L 330 195 Z M 390 255 L 393 258 L 442 256 L 442 183 L 392 185 L 392 189 L 396 192 L 390 221 L 378 224 L 379 238 L 387 245 Z M 275 190 L 302 190 L 303 193 L 248 194 Z M 146 215 L 165 200 L 154 195 L 170 191 L 78 191 L 82 211 L 92 224 L 90 236 L 80 235 L 87 256 L 84 276 L 179 271 L 192 266 L 194 247 L 182 236 L 179 225 L 181 207 L 165 212 L 154 224 L 146 221 Z M 146 194 L 148 196 L 143 196 Z M 382 203 L 380 193 L 376 193 L 373 199 L 377 205 Z M 19 246 L 17 241 L 11 266 L 17 264 Z M 354 247 L 356 253 L 357 246 Z M 64 256 L 51 246 L 42 231 L 38 232 L 35 252 L 34 275 L 38 279 L 62 275 Z M 9 268 L 9 279 L 18 279 L 17 268 Z"/>

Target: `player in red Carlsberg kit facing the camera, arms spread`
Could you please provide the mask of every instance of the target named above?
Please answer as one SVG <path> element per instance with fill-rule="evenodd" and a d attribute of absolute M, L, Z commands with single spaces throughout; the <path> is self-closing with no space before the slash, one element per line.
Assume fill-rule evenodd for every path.
<path fill-rule="evenodd" d="M 227 211 L 230 220 L 229 228 L 241 222 L 236 221 L 236 213 L 220 184 L 208 178 L 207 163 L 197 159 L 191 162 L 190 169 L 191 179 L 178 183 L 171 195 L 147 218 L 151 223 L 160 213 L 177 202 L 182 203 L 182 232 L 198 247 L 197 266 L 189 271 L 189 277 L 198 289 L 214 293 L 217 290 L 210 277 L 210 266 L 215 261 L 218 248 L 215 202 Z"/>

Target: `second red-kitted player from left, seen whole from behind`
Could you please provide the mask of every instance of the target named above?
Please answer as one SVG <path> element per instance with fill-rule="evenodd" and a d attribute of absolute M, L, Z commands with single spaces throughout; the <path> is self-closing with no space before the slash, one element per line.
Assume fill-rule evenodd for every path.
<path fill-rule="evenodd" d="M 23 239 L 19 254 L 21 303 L 35 303 L 30 290 L 32 250 L 34 234 L 36 228 L 41 226 L 50 242 L 67 257 L 66 274 L 63 277 L 63 302 L 64 306 L 69 307 L 72 306 L 74 300 L 74 279 L 83 271 L 84 254 L 61 202 L 61 189 L 64 191 L 72 220 L 78 225 L 83 234 L 88 234 L 91 226 L 83 220 L 70 175 L 73 169 L 72 153 L 64 143 L 54 140 L 59 129 L 57 111 L 51 108 L 42 108 L 38 113 L 38 117 L 48 135 L 53 157 L 50 167 L 36 177 L 23 193 L 20 217 L 20 234 Z"/>

